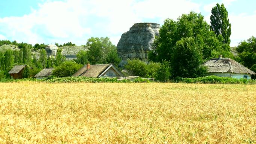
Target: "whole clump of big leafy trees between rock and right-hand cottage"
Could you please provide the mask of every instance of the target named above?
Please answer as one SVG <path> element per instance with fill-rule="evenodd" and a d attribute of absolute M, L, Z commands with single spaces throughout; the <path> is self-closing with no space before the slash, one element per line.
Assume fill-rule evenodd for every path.
<path fill-rule="evenodd" d="M 216 57 L 217 53 L 232 56 L 229 45 L 222 40 L 221 35 L 216 36 L 210 31 L 210 25 L 204 20 L 204 16 L 190 12 L 180 16 L 177 21 L 165 19 L 159 30 L 159 36 L 153 42 L 149 59 L 156 62 L 169 61 L 171 71 L 174 73 L 171 75 L 174 77 L 199 76 L 199 71 L 202 70 L 200 64 L 203 60 Z M 184 61 L 177 61 L 179 57 L 184 57 Z"/>

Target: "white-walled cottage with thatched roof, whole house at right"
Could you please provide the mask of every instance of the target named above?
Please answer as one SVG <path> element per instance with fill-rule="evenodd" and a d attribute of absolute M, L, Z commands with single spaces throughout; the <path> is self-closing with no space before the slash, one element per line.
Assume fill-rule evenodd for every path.
<path fill-rule="evenodd" d="M 222 55 L 219 58 L 212 58 L 202 65 L 207 66 L 208 72 L 216 76 L 251 79 L 251 75 L 256 75 L 255 72 L 235 60 L 222 58 Z"/>

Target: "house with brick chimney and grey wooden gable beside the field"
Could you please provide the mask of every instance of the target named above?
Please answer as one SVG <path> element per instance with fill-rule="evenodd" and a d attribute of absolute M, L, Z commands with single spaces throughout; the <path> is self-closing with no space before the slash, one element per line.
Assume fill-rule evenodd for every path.
<path fill-rule="evenodd" d="M 113 64 L 86 64 L 80 68 L 73 76 L 86 76 L 86 77 L 124 77 Z"/>

